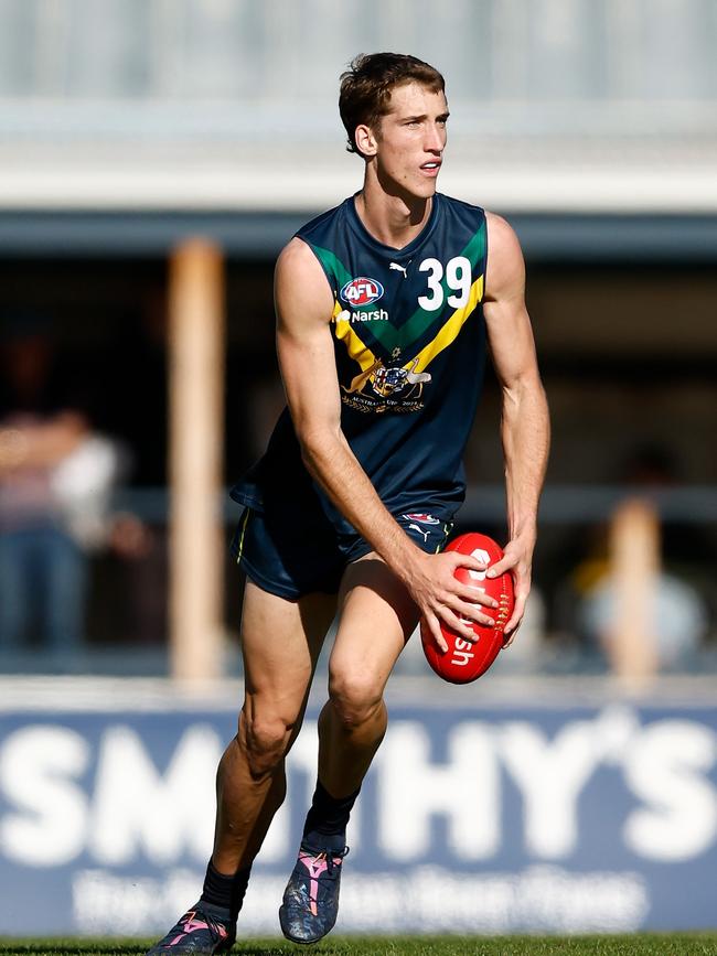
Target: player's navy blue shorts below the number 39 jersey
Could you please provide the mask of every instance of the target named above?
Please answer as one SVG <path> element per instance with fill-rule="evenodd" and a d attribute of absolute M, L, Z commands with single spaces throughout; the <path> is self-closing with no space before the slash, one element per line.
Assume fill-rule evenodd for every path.
<path fill-rule="evenodd" d="M 394 515 L 424 550 L 442 550 L 453 527 L 430 514 Z M 335 594 L 352 561 L 373 551 L 358 534 L 338 534 L 328 518 L 297 509 L 280 515 L 246 507 L 232 540 L 232 554 L 246 576 L 264 591 L 296 600 L 320 591 Z"/>

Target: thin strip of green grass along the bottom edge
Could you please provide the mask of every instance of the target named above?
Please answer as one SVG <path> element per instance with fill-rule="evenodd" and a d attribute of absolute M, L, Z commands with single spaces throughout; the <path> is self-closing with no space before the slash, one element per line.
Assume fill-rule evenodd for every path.
<path fill-rule="evenodd" d="M 22 939 L 0 941 L 7 956 L 145 956 L 150 941 Z M 255 939 L 237 943 L 233 956 L 289 956 L 302 952 L 290 943 Z M 717 933 L 639 934 L 629 936 L 385 936 L 336 937 L 307 947 L 317 956 L 713 956 Z"/>

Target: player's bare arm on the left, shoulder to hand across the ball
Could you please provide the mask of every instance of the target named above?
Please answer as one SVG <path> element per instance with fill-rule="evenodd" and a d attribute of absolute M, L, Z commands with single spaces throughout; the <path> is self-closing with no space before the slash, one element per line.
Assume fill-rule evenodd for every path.
<path fill-rule="evenodd" d="M 331 335 L 333 296 L 315 256 L 295 238 L 275 275 L 277 354 L 303 462 L 344 517 L 400 578 L 437 643 L 446 649 L 439 620 L 474 640 L 462 614 L 492 624 L 481 592 L 453 577 L 457 567 L 481 570 L 469 555 L 427 555 L 394 520 L 341 430 L 341 394 Z"/>

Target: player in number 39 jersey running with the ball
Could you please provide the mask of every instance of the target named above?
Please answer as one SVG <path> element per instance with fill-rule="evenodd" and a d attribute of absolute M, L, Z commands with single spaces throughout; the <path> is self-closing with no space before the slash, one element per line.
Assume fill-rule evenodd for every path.
<path fill-rule="evenodd" d="M 245 505 L 235 552 L 247 576 L 246 691 L 218 769 L 214 852 L 201 900 L 151 954 L 232 945 L 338 611 L 317 787 L 279 911 L 298 943 L 333 926 L 346 823 L 386 730 L 384 687 L 398 655 L 420 615 L 443 649 L 441 625 L 472 640 L 470 620 L 493 623 L 495 602 L 453 576 L 484 566 L 441 552 L 463 500 L 461 456 L 489 348 L 503 394 L 510 540 L 488 573 L 514 576 L 509 643 L 529 590 L 548 416 L 518 241 L 499 216 L 436 192 L 448 106 L 431 66 L 357 57 L 342 76 L 340 112 L 363 187 L 279 256 L 288 408 L 233 491 Z"/>

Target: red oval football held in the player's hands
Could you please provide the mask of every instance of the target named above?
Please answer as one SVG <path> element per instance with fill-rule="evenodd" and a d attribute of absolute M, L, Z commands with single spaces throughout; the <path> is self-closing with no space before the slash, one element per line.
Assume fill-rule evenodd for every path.
<path fill-rule="evenodd" d="M 471 531 L 460 535 L 452 540 L 447 551 L 460 551 L 461 555 L 473 555 L 479 560 L 485 561 L 489 567 L 495 565 L 503 557 L 503 550 L 492 538 Z M 448 651 L 443 652 L 426 626 L 420 622 L 420 637 L 424 644 L 426 659 L 439 677 L 451 684 L 470 684 L 481 674 L 485 674 L 497 652 L 503 646 L 503 630 L 513 614 L 513 578 L 510 571 L 499 578 L 486 578 L 485 571 L 473 571 L 469 568 L 457 568 L 456 577 L 459 581 L 471 584 L 477 590 L 486 591 L 495 598 L 499 606 L 494 610 L 485 608 L 485 613 L 495 617 L 495 626 L 471 622 L 478 641 L 471 644 L 456 631 L 441 623 L 441 633 L 448 644 Z M 480 582 L 480 583 L 479 583 Z"/>

